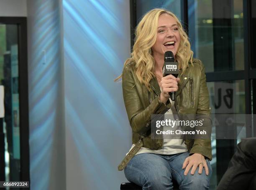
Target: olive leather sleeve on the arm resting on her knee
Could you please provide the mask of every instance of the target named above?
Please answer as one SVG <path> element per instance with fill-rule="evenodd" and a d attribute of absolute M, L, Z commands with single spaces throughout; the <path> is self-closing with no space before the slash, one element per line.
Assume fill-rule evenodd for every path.
<path fill-rule="evenodd" d="M 200 61 L 201 79 L 200 79 L 200 92 L 197 106 L 196 120 L 202 121 L 202 126 L 196 126 L 196 130 L 205 130 L 209 138 L 195 138 L 190 154 L 200 153 L 208 159 L 212 160 L 212 146 L 210 135 L 212 132 L 212 121 L 210 118 L 210 103 L 209 92 L 206 85 L 205 67 Z"/>

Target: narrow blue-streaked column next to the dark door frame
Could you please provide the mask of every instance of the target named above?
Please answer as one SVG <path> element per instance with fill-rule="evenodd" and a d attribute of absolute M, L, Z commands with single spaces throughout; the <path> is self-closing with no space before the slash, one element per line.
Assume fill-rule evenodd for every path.
<path fill-rule="evenodd" d="M 30 188 L 46 190 L 51 186 L 54 131 L 59 124 L 59 3 L 37 0 L 28 5 Z"/>

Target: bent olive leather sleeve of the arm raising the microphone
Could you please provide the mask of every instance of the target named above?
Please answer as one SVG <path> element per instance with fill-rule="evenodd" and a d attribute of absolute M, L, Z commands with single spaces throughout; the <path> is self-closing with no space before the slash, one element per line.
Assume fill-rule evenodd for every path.
<path fill-rule="evenodd" d="M 126 65 L 123 69 L 122 76 L 123 87 L 123 100 L 125 103 L 126 112 L 133 132 L 143 135 L 151 129 L 150 121 L 151 114 L 160 114 L 166 112 L 171 103 L 167 105 L 160 102 L 157 96 L 149 105 L 144 109 L 136 84 L 133 79 L 131 68 Z"/>

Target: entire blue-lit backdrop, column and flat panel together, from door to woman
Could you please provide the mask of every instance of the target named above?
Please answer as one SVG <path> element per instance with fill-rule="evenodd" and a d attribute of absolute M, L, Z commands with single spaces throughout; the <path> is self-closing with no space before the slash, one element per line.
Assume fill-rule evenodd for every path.
<path fill-rule="evenodd" d="M 114 82 L 130 56 L 129 1 L 27 3 L 31 189 L 118 189 L 131 147 Z"/>

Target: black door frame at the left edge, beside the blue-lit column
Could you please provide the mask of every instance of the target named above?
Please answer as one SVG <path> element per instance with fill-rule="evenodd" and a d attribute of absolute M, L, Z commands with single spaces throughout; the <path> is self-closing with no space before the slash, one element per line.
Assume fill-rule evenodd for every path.
<path fill-rule="evenodd" d="M 1 24 L 18 25 L 18 72 L 20 108 L 20 181 L 30 181 L 28 121 L 28 47 L 27 18 L 0 17 Z"/>

